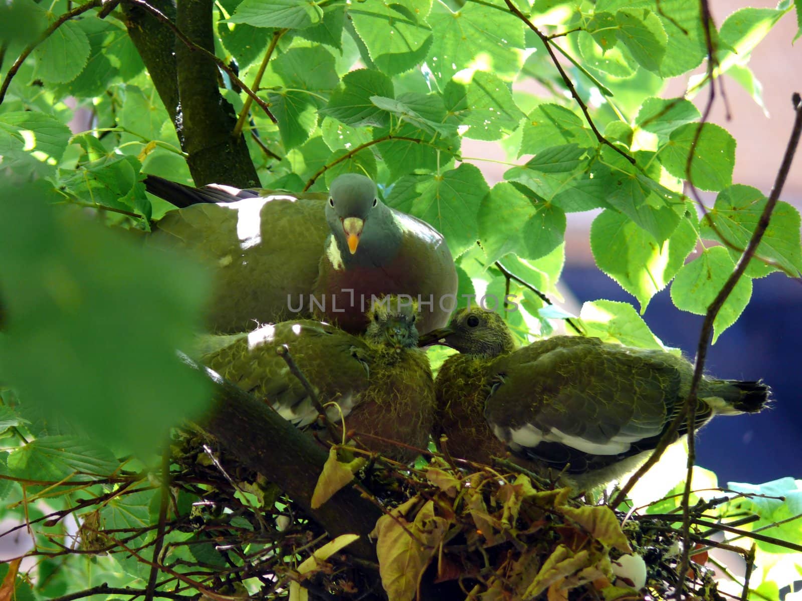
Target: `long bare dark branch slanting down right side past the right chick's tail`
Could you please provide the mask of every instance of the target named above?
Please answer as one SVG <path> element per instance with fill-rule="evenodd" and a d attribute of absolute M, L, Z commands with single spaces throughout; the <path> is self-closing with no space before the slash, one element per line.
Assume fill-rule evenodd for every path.
<path fill-rule="evenodd" d="M 711 335 L 713 320 L 715 319 L 716 314 L 719 313 L 719 309 L 721 309 L 721 305 L 723 305 L 724 300 L 727 300 L 727 296 L 729 296 L 732 288 L 735 288 L 735 284 L 739 280 L 740 276 L 743 275 L 751 256 L 755 253 L 755 248 L 757 248 L 760 240 L 763 238 L 766 228 L 768 228 L 768 221 L 772 216 L 772 211 L 777 204 L 777 200 L 780 199 L 780 193 L 783 190 L 785 180 L 788 178 L 788 172 L 791 170 L 793 156 L 796 152 L 796 147 L 799 145 L 800 133 L 802 133 L 802 100 L 800 100 L 800 95 L 798 93 L 793 95 L 792 102 L 794 103 L 794 111 L 796 111 L 796 119 L 792 127 L 791 139 L 788 140 L 788 147 L 785 149 L 783 163 L 780 165 L 780 171 L 777 173 L 774 188 L 772 189 L 772 193 L 768 198 L 768 203 L 764 208 L 763 214 L 760 216 L 760 220 L 755 228 L 755 232 L 752 232 L 752 236 L 749 240 L 749 244 L 747 244 L 747 248 L 743 251 L 743 255 L 739 259 L 738 264 L 735 265 L 735 271 L 732 272 L 732 275 L 724 283 L 719 295 L 715 297 L 715 300 L 713 300 L 710 307 L 707 309 L 707 315 L 705 316 L 705 320 L 702 325 L 702 332 L 699 336 L 699 348 L 696 354 L 694 377 L 693 381 L 691 382 L 691 392 L 687 398 L 686 406 L 683 408 L 683 411 L 678 413 L 677 417 L 674 418 L 674 422 L 671 422 L 670 426 L 666 429 L 665 434 L 662 435 L 658 446 L 654 449 L 654 452 L 651 454 L 650 458 L 640 467 L 640 469 L 638 469 L 638 471 L 632 475 L 630 480 L 626 482 L 626 485 L 618 492 L 618 495 L 616 495 L 611 503 L 611 505 L 614 507 L 618 506 L 624 501 L 626 494 L 632 490 L 635 482 L 638 482 L 638 479 L 641 478 L 643 474 L 646 474 L 646 472 L 658 462 L 662 452 L 666 450 L 666 447 L 671 442 L 674 441 L 674 436 L 677 434 L 679 425 L 683 422 L 685 412 L 691 407 L 691 401 L 695 401 L 696 392 L 699 389 L 699 381 L 701 380 L 704 369 L 704 360 L 707 356 L 707 341 Z"/>

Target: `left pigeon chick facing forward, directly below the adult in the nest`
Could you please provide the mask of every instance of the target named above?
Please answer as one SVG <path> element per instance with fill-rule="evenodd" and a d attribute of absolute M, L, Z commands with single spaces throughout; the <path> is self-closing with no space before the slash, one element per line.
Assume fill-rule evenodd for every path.
<path fill-rule="evenodd" d="M 243 335 L 201 362 L 242 389 L 263 398 L 298 426 L 318 417 L 318 411 L 298 380 L 276 353 L 290 349 L 298 368 L 316 389 L 326 415 L 346 430 L 426 448 L 435 409 L 435 387 L 425 351 L 418 348 L 416 308 L 389 296 L 367 312 L 363 337 L 321 321 L 283 321 Z M 365 438 L 363 444 L 400 461 L 415 451 Z"/>

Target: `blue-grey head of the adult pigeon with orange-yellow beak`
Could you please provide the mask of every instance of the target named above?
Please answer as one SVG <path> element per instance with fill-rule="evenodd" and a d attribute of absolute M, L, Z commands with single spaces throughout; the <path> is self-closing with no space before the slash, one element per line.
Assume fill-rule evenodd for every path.
<path fill-rule="evenodd" d="M 379 200 L 376 184 L 358 173 L 345 173 L 331 183 L 326 220 L 340 251 L 355 255 L 360 248 L 387 244 L 390 210 Z M 379 244 L 381 243 L 381 244 Z"/>

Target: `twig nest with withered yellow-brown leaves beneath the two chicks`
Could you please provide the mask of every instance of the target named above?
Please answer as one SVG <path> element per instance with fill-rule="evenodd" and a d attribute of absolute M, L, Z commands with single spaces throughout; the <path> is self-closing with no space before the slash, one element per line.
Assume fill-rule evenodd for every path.
<path fill-rule="evenodd" d="M 693 598 L 723 599 L 703 555 L 678 575 L 676 518 L 626 518 L 526 474 L 373 458 L 356 475 L 383 507 L 377 565 L 332 543 L 298 503 L 208 440 L 182 438 L 173 461 L 176 507 L 194 500 L 172 527 L 192 532 L 193 567 L 212 572 L 206 582 L 220 595 L 293 598 L 303 587 L 310 599 L 613 601 L 668 599 L 681 585 Z M 162 563 L 171 566 L 169 550 Z"/>

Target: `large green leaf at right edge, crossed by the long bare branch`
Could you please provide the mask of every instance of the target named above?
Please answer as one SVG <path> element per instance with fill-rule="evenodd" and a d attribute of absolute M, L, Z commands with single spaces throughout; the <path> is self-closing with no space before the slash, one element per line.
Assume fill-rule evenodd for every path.
<path fill-rule="evenodd" d="M 757 228 L 768 199 L 756 188 L 734 185 L 724 188 L 715 199 L 715 206 L 702 220 L 702 236 L 710 240 L 721 240 L 716 235 L 712 223 L 719 234 L 731 244 L 746 248 L 752 232 Z M 731 251 L 733 259 L 739 253 Z M 776 204 L 768 228 L 760 240 L 757 256 L 776 261 L 789 276 L 796 277 L 802 272 L 802 251 L 800 251 L 800 214 L 792 205 L 780 201 Z M 752 259 L 747 268 L 749 276 L 764 276 L 775 271 L 771 265 Z"/>

